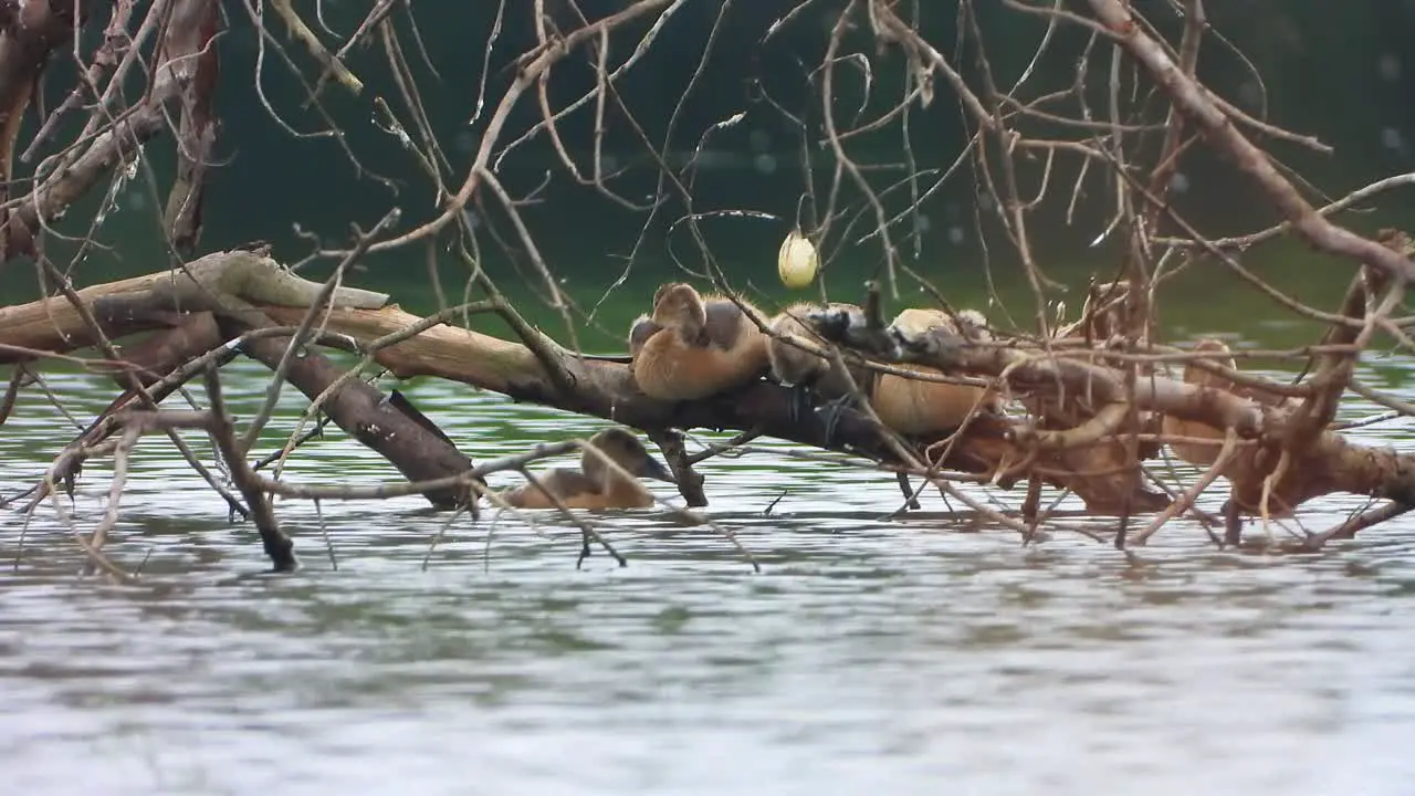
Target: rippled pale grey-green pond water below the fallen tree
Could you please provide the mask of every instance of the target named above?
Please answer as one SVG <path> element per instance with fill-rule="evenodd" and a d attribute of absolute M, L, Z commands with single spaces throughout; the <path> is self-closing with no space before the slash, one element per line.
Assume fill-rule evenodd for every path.
<path fill-rule="evenodd" d="M 1380 365 L 1364 375 L 1415 398 L 1399 390 L 1412 363 Z M 82 375 L 48 385 L 81 421 L 112 397 Z M 249 416 L 263 371 L 236 363 L 226 385 Z M 480 459 L 601 426 L 406 390 Z M 291 392 L 266 449 L 303 406 Z M 7 494 L 65 422 L 24 398 L 0 432 Z M 1412 446 L 1408 421 L 1357 433 Z M 429 554 L 447 517 L 402 499 L 282 503 L 304 569 L 272 576 L 250 528 L 146 439 L 110 544 L 139 585 L 76 578 L 51 511 L 28 528 L 0 514 L 7 789 L 1409 793 L 1415 524 L 1283 555 L 1217 551 L 1174 523 L 1125 555 L 1064 525 L 1107 520 L 1071 518 L 1023 547 L 951 520 L 937 494 L 927 516 L 887 520 L 893 479 L 791 452 L 766 442 L 703 467 L 709 513 L 761 574 L 657 510 L 601 518 L 625 568 L 601 554 L 576 568 L 577 533 L 553 520 L 463 518 Z M 81 480 L 79 527 L 110 472 Z M 333 432 L 287 477 L 396 472 Z M 1320 500 L 1300 523 L 1360 506 Z"/>

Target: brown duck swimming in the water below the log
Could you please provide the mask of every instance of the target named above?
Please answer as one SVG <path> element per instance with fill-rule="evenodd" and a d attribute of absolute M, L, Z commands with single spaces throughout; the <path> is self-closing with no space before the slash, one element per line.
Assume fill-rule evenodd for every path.
<path fill-rule="evenodd" d="M 649 456 L 644 443 L 627 429 L 607 428 L 591 436 L 590 445 L 634 476 L 674 482 L 668 469 Z M 567 508 L 644 508 L 654 504 L 654 497 L 642 484 L 614 472 L 589 450 L 580 453 L 580 470 L 555 469 L 541 473 L 538 480 L 543 491 L 526 483 L 507 491 L 502 499 L 516 508 L 555 508 L 546 491 Z"/>

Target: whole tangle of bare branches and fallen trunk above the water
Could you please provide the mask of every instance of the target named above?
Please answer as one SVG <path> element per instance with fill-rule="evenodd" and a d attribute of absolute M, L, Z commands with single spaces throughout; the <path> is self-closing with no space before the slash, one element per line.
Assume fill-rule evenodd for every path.
<path fill-rule="evenodd" d="M 1203 518 L 1194 501 L 1218 479 L 1231 489 L 1227 542 L 1238 541 L 1244 514 L 1276 521 L 1332 491 L 1391 504 L 1309 534 L 1303 538 L 1309 547 L 1394 517 L 1415 500 L 1405 457 L 1354 446 L 1334 428 L 1348 391 L 1394 414 L 1415 414 L 1407 402 L 1354 378 L 1358 357 L 1377 336 L 1411 347 L 1409 319 L 1395 314 L 1415 275 L 1411 246 L 1395 231 L 1361 235 L 1339 215 L 1415 183 L 1415 174 L 1317 201 L 1315 190 L 1262 144 L 1330 147 L 1244 110 L 1224 98 L 1221 86 L 1197 78 L 1207 48 L 1231 47 L 1211 27 L 1203 0 L 1176 0 L 1156 10 L 1163 18 L 1148 18 L 1121 0 L 1087 0 L 1078 10 L 1058 0 L 1003 0 L 996 10 L 961 0 L 951 21 L 957 42 L 951 51 L 940 34 L 947 20 L 931 17 L 935 8 L 887 0 L 799 0 L 749 37 L 757 64 L 791 51 L 791 37 L 797 44 L 808 41 L 791 51 L 799 81 L 787 91 L 784 72 L 763 65 L 749 92 L 749 110 L 706 122 L 693 103 L 713 79 L 715 58 L 724 57 L 723 38 L 740 40 L 732 25 L 750 27 L 760 13 L 743 3 L 633 0 L 591 8 L 574 0 L 501 0 L 494 17 L 481 20 L 487 31 L 480 59 L 432 58 L 412 3 L 375 3 L 337 47 L 327 44 L 337 34 L 323 6 L 311 23 L 289 0 L 270 0 L 279 18 L 270 27 L 267 21 L 275 20 L 267 20 L 262 0 L 243 0 L 239 11 L 245 16 L 232 18 L 214 0 L 156 0 L 146 10 L 119 0 L 102 10 L 103 20 L 96 6 L 86 0 L 0 3 L 0 113 L 7 119 L 0 139 L 7 183 L 0 205 L 3 255 L 7 262 L 33 261 L 44 292 L 37 302 L 0 309 L 0 363 L 13 365 L 7 404 L 38 363 L 83 347 L 98 351 L 96 360 L 83 364 L 123 390 L 103 416 L 62 448 L 42 483 L 25 493 L 28 500 L 8 496 L 7 504 L 34 511 L 48 500 L 64 516 L 52 499 L 79 476 L 85 459 L 113 455 L 123 460 L 137 435 L 166 433 L 232 513 L 258 525 L 276 567 L 290 568 L 290 542 L 269 496 L 313 497 L 314 491 L 260 476 L 248 462 L 286 384 L 311 405 L 280 460 L 294 455 L 304 426 L 327 412 L 410 482 L 406 489 L 378 490 L 379 496 L 420 493 L 440 508 L 477 514 L 480 499 L 501 500 L 487 489 L 484 474 L 524 472 L 536 457 L 475 466 L 398 392 L 385 397 L 365 381 L 364 373 L 375 365 L 400 377 L 451 378 L 642 429 L 661 445 L 683 497 L 695 507 L 706 504 L 706 496 L 693 466 L 722 452 L 686 450 L 679 432 L 698 426 L 737 429 L 743 439 L 770 435 L 845 450 L 872 466 L 923 476 L 979 510 L 957 490 L 957 482 L 1002 489 L 1024 483 L 1022 520 L 986 513 L 1027 538 L 1044 520 L 1037 506 L 1046 486 L 1074 490 L 1091 510 L 1119 516 L 1119 545 L 1143 542 L 1182 514 Z M 457 18 L 475 16 L 466 14 Z M 1005 79 L 1016 58 L 999 55 L 1005 48 L 996 31 L 1022 20 L 1041 23 L 1037 47 L 1020 74 Z M 83 55 L 82 34 L 96 31 L 100 21 L 106 25 L 102 42 Z M 241 144 L 219 139 L 214 110 L 218 85 L 233 79 L 229 64 L 221 69 L 221 40 L 236 30 L 252 33 L 256 44 L 253 85 L 272 125 L 301 140 L 327 139 L 352 170 L 382 188 L 413 181 L 432 193 L 436 207 L 422 215 L 405 212 L 400 195 L 400 207 L 386 210 L 378 224 L 366 231 L 355 227 L 348 245 L 307 234 L 310 255 L 289 271 L 260 245 L 198 256 L 208 177 L 221 167 L 215 152 L 218 144 Z M 1173 35 L 1166 37 L 1166 30 Z M 672 103 L 655 105 L 633 88 L 638 75 L 655 68 L 651 64 L 683 59 L 688 41 L 695 42 L 698 61 L 686 85 L 674 91 Z M 47 65 L 67 58 L 75 68 L 72 89 L 52 113 L 42 115 L 33 86 Z M 314 67 L 301 67 L 304 59 Z M 303 88 L 300 112 L 323 129 L 296 133 L 290 112 L 266 95 L 270 62 L 287 69 L 283 81 Z M 903 76 L 886 78 L 890 68 Z M 1061 72 L 1065 79 L 1056 79 Z M 134 75 L 144 81 L 144 91 L 132 99 L 123 86 Z M 430 89 L 439 81 L 475 86 L 470 112 L 460 109 L 461 123 L 475 130 L 466 157 L 449 156 L 447 135 L 437 122 L 444 108 Z M 362 103 L 362 123 L 396 142 L 405 166 L 412 166 L 408 176 L 391 180 L 365 166 L 331 109 L 334 93 Z M 934 125 L 937 133 L 951 108 L 964 136 L 949 166 L 937 146 L 921 147 L 937 136 L 916 129 Z M 21 142 L 20 120 L 28 112 L 40 123 Z M 85 113 L 82 129 L 61 143 L 65 125 L 76 126 Z M 835 405 L 826 419 L 802 414 L 799 394 L 771 380 L 700 401 L 655 401 L 638 390 L 623 358 L 582 354 L 579 334 L 597 326 L 597 307 L 586 310 L 565 289 L 572 266 L 546 255 L 536 215 L 536 205 L 559 184 L 587 188 L 596 203 L 641 224 L 611 290 L 624 289 L 631 272 L 651 268 L 666 252 L 676 272 L 654 273 L 655 282 L 686 275 L 709 283 L 758 331 L 782 339 L 768 327 L 768 313 L 753 305 L 775 310 L 777 302 L 750 278 L 722 266 L 706 222 L 780 221 L 791 214 L 775 207 L 743 208 L 740 195 L 739 204 L 717 203 L 702 188 L 715 142 L 744 120 L 767 118 L 797 139 L 802 169 L 799 186 L 791 186 L 797 200 L 790 225 L 826 254 L 816 280 L 821 305 L 804 316 L 809 329 L 801 327 L 815 331 L 815 339 L 791 336 L 790 343 L 838 364 L 849 357 L 869 371 L 901 378 L 930 377 L 891 363 L 928 365 L 945 374 L 941 378 L 988 385 L 1007 398 L 1006 409 L 975 412 L 947 435 L 920 438 L 882 421 L 859 390 L 853 405 Z M 158 187 L 144 150 L 167 133 L 177 154 L 161 214 L 170 266 L 112 283 L 86 278 L 81 265 L 105 248 L 103 221 L 123 186 L 142 174 Z M 897 161 L 874 157 L 884 139 L 893 142 L 887 146 Z M 623 154 L 625 147 L 633 157 Z M 17 149 L 21 167 L 38 157 L 23 177 L 14 169 Z M 1173 195 L 1182 161 L 1199 150 L 1220 156 L 1281 222 L 1225 238 L 1203 235 Z M 532 160 L 536 152 L 550 157 L 552 167 L 542 170 L 541 183 L 522 186 L 511 176 L 511 164 Z M 768 159 L 767 166 L 778 164 Z M 1074 180 L 1063 177 L 1068 170 Z M 924 208 L 968 174 L 969 194 L 976 197 L 976 237 L 1005 244 L 998 251 L 983 244 L 988 282 L 998 280 L 995 261 L 1015 262 L 1030 292 L 1030 312 L 1015 317 L 995 292 L 990 340 L 966 344 L 952 333 L 886 324 L 879 305 L 899 300 L 901 286 L 917 286 L 931 305 L 957 317 L 937 278 L 920 265 L 928 228 Z M 103 180 L 108 188 L 92 218 L 61 222 Z M 1099 215 L 1092 193 L 1104 197 Z M 1064 215 L 1067 224 L 1094 227 L 1092 238 L 1115 244 L 1118 254 L 1116 262 L 1092 269 L 1088 300 L 1075 319 L 1058 312 L 1064 285 L 1039 241 L 1036 220 L 1047 211 Z M 672 245 L 681 232 L 693 245 L 691 255 Z M 1339 307 L 1302 303 L 1242 263 L 1247 249 L 1283 235 L 1320 252 L 1324 266 L 1356 275 Z M 55 258 L 65 245 L 72 249 L 71 262 L 61 265 Z M 522 312 L 525 305 L 515 306 L 502 292 L 502 279 L 491 268 L 492 251 L 525 268 L 546 306 L 563 320 L 563 340 L 536 329 Z M 369 255 L 424 255 L 433 263 L 436 310 L 417 317 L 389 306 L 383 293 L 350 288 L 357 265 Z M 461 303 L 446 297 L 439 259 L 466 269 Z M 831 306 L 831 299 L 856 297 L 856 290 L 839 288 L 849 276 L 838 279 L 836 273 L 848 273 L 845 263 L 862 259 L 874 261 L 874 283 L 883 292 L 867 292 L 863 309 Z M 290 273 L 316 262 L 335 263 L 323 283 Z M 1244 373 L 1221 346 L 1186 351 L 1166 344 L 1157 323 L 1162 288 L 1201 262 L 1217 263 L 1290 312 L 1327 326 L 1323 340 L 1290 353 L 1306 363 L 1296 384 Z M 1101 279 L 1102 273 L 1116 278 Z M 81 289 L 82 282 L 88 286 Z M 645 310 L 647 293 L 635 302 Z M 514 340 L 464 329 L 477 314 L 498 317 Z M 156 334 L 140 346 L 125 350 L 116 343 L 147 331 Z M 318 354 L 321 346 L 351 351 L 359 363 L 341 368 Z M 215 375 L 215 368 L 241 354 L 273 373 L 260 412 L 243 429 L 233 428 L 222 409 Z M 1186 365 L 1184 375 L 1170 373 L 1176 364 Z M 160 405 L 195 377 L 207 380 L 207 408 L 174 414 Z M 181 432 L 194 429 L 215 440 L 215 470 L 187 446 Z M 1197 482 L 1189 487 L 1165 483 L 1145 467 L 1146 460 L 1165 455 L 1166 445 L 1201 469 Z M 117 569 L 102 558 L 102 548 L 106 528 L 116 521 L 122 473 L 122 467 L 115 473 L 99 528 L 86 538 L 75 528 L 106 571 Z M 1128 533 L 1131 517 L 1140 514 L 1153 517 L 1140 531 Z M 611 551 L 593 525 L 582 528 L 586 550 L 594 538 Z"/>

